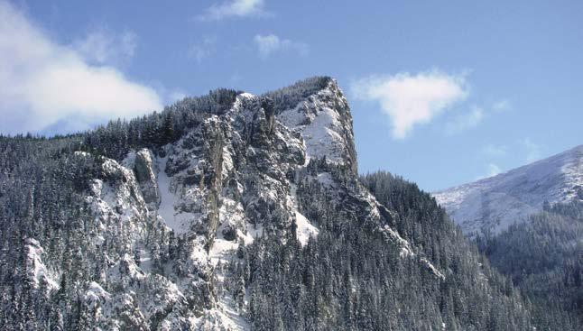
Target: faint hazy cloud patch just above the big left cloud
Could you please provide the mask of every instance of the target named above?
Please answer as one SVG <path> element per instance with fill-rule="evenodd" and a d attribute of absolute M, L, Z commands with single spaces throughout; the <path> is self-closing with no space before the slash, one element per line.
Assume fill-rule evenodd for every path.
<path fill-rule="evenodd" d="M 88 62 L 110 65 L 127 63 L 134 57 L 136 46 L 137 36 L 134 32 L 116 34 L 103 27 L 73 43 L 75 50 Z"/>

